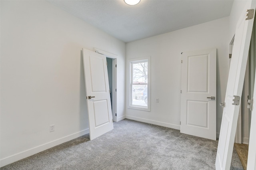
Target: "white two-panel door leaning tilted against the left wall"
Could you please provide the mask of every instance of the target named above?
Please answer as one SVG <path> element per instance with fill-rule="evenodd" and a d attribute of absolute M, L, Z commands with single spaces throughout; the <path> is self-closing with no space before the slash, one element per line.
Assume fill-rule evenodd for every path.
<path fill-rule="evenodd" d="M 112 130 L 106 56 L 83 48 L 90 140 Z"/>

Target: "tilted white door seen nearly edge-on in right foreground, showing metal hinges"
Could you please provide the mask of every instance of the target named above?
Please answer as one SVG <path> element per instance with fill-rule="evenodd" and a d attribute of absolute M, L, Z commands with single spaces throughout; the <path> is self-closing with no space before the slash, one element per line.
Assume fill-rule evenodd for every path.
<path fill-rule="evenodd" d="M 252 35 L 252 26 L 255 10 L 254 0 L 246 3 L 238 24 L 236 26 L 236 36 L 230 70 L 228 75 L 228 85 L 226 89 L 225 103 L 220 128 L 220 138 L 216 155 L 216 170 L 230 169 L 238 113 L 240 109 L 240 97 L 244 84 L 244 75 Z"/>

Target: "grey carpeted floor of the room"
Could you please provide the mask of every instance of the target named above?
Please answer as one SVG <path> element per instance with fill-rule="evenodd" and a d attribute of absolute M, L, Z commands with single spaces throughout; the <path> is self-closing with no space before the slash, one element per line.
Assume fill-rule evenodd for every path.
<path fill-rule="evenodd" d="M 124 119 L 90 141 L 89 134 L 0 170 L 214 170 L 218 141 Z M 234 150 L 232 170 L 243 170 Z"/>

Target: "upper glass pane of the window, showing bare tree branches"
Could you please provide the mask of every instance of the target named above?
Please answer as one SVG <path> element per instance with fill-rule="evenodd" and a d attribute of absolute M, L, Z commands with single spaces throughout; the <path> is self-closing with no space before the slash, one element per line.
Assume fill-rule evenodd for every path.
<path fill-rule="evenodd" d="M 132 64 L 132 82 L 148 83 L 148 62 Z"/>

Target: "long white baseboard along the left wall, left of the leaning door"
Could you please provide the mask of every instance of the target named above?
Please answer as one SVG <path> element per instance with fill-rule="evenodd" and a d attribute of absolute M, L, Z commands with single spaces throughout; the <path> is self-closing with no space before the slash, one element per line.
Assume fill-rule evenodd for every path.
<path fill-rule="evenodd" d="M 79 136 L 82 136 L 82 135 L 87 134 L 87 133 L 89 133 L 89 129 L 85 129 L 85 130 L 82 130 L 80 132 L 76 132 L 74 134 L 70 134 L 68 136 L 65 136 L 63 138 L 48 142 L 46 144 L 42 144 L 40 146 L 36 146 L 34 148 L 25 150 L 23 152 L 14 154 L 12 156 L 8 156 L 8 157 L 3 158 L 3 159 L 0 160 L 0 167 L 6 166 L 6 165 L 11 164 L 13 162 L 16 162 L 18 160 L 24 159 L 28 156 L 32 156 L 34 154 L 37 154 L 39 152 L 42 152 L 46 149 L 52 148 L 52 147 L 57 146 L 59 144 L 62 144 L 64 142 L 68 142 L 69 140 L 72 140 L 74 138 L 78 138 Z"/>

